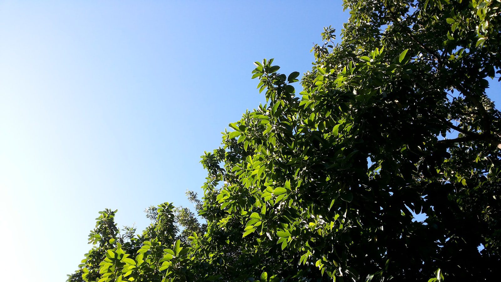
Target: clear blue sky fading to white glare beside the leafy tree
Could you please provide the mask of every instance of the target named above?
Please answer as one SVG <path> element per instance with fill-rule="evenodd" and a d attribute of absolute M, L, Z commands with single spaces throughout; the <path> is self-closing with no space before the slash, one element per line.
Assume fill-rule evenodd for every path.
<path fill-rule="evenodd" d="M 347 18 L 340 0 L 0 2 L 2 280 L 66 280 L 104 208 L 142 230 L 147 206 L 190 205 L 200 155 L 264 101 L 252 63 L 303 73 Z"/>

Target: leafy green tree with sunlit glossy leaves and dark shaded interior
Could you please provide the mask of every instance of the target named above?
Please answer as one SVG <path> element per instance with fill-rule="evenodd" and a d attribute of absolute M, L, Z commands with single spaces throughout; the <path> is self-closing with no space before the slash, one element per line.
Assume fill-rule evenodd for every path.
<path fill-rule="evenodd" d="M 342 42 L 325 28 L 301 96 L 291 85 L 298 72 L 255 63 L 268 103 L 230 123 L 222 147 L 202 156 L 197 212 L 206 225 L 178 210 L 191 227 L 177 235 L 175 208 L 164 204 L 127 241 L 106 211 L 69 281 L 494 277 L 501 113 L 485 89 L 501 74 L 501 3 L 344 8 Z"/>

